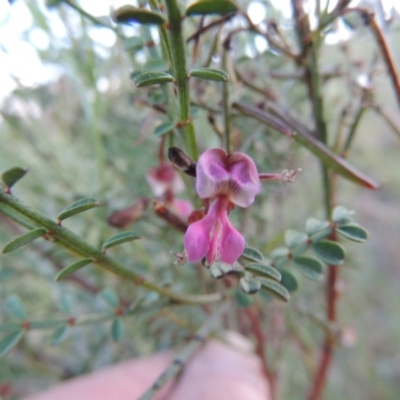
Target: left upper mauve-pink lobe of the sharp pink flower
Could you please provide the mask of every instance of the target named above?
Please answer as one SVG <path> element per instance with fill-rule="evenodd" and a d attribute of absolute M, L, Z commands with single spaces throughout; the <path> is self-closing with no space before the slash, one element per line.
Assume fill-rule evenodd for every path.
<path fill-rule="evenodd" d="M 226 158 L 226 152 L 218 148 L 209 149 L 200 156 L 196 166 L 196 190 L 200 198 L 215 197 L 221 184 L 229 181 Z"/>

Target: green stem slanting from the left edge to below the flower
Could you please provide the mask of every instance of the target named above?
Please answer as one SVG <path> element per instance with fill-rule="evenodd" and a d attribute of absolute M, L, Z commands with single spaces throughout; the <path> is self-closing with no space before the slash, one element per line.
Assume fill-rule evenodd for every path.
<path fill-rule="evenodd" d="M 127 269 L 119 261 L 114 260 L 107 254 L 86 243 L 82 238 L 80 238 L 69 229 L 58 225 L 56 222 L 47 218 L 38 211 L 24 205 L 16 197 L 7 194 L 2 189 L 0 189 L 0 203 L 8 205 L 14 211 L 17 211 L 18 213 L 35 222 L 35 224 L 37 224 L 38 226 L 46 228 L 54 239 L 58 240 L 63 246 L 72 250 L 74 253 L 77 253 L 83 257 L 93 258 L 95 260 L 93 262 L 95 266 L 99 266 L 122 278 L 128 279 L 135 284 L 139 284 L 146 289 L 157 292 L 160 295 L 168 297 L 175 302 L 187 304 L 206 304 L 222 300 L 222 295 L 220 293 L 213 293 L 208 295 L 179 294 L 145 280 L 143 276 L 141 276 L 139 273 Z"/>

